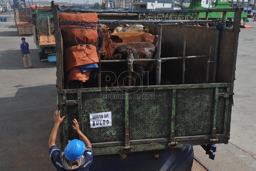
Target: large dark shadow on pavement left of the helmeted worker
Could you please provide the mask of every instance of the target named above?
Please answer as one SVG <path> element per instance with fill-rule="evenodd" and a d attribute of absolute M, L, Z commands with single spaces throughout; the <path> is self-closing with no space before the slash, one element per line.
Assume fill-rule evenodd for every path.
<path fill-rule="evenodd" d="M 1 170 L 56 170 L 48 152 L 58 109 L 55 85 L 14 87 L 14 97 L 0 98 Z M 56 145 L 59 142 L 57 135 Z"/>

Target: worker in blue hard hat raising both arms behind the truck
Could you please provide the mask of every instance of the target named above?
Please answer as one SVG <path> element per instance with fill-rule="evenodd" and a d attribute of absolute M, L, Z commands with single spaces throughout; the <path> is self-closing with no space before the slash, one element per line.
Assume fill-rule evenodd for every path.
<path fill-rule="evenodd" d="M 57 131 L 64 118 L 65 116 L 60 117 L 60 111 L 54 113 L 55 125 L 48 141 L 52 164 L 58 171 L 88 171 L 93 161 L 93 149 L 88 138 L 80 131 L 76 119 L 73 120 L 74 125 L 72 127 L 81 140 L 75 139 L 68 142 L 64 152 L 60 152 L 59 148 L 55 145 Z"/>

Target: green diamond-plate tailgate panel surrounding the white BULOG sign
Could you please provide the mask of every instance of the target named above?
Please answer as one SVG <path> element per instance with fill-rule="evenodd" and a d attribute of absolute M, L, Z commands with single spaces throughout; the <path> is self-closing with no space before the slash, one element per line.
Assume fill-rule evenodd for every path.
<path fill-rule="evenodd" d="M 124 141 L 124 99 L 100 99 L 100 92 L 82 93 L 81 110 L 82 132 L 91 143 Z M 110 111 L 112 126 L 90 128 L 91 113 Z"/>

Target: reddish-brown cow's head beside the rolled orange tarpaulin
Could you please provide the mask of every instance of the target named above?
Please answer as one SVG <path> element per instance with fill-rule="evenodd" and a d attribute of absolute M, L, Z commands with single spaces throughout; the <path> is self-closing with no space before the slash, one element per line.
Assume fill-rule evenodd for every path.
<path fill-rule="evenodd" d="M 101 55 L 105 56 L 107 48 L 109 46 L 109 41 L 114 43 L 121 43 L 123 40 L 117 35 L 111 35 L 115 29 L 110 28 L 102 28 L 100 29 L 100 36 L 99 36 L 99 47 L 101 48 Z"/>

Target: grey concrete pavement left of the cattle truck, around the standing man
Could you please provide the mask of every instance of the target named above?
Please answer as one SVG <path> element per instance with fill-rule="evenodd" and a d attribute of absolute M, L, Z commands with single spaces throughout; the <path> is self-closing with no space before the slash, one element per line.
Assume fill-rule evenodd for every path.
<path fill-rule="evenodd" d="M 0 28 L 0 170 L 55 170 L 47 142 L 57 110 L 56 62 L 39 62 L 33 35 L 17 34 L 14 22 Z M 22 37 L 35 68 L 23 65 Z"/>

